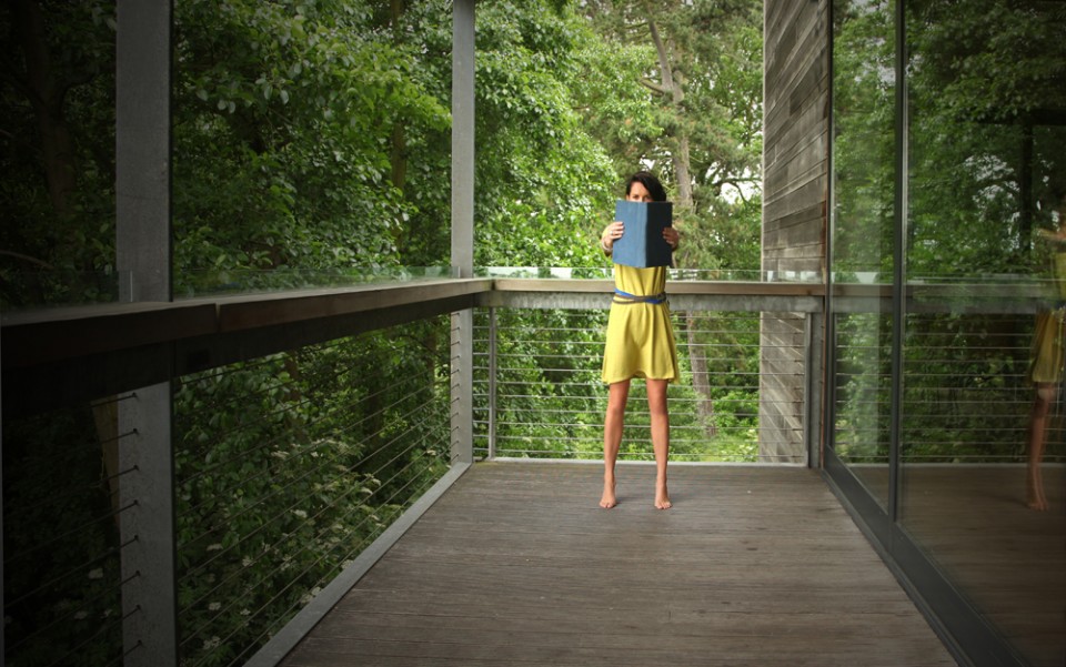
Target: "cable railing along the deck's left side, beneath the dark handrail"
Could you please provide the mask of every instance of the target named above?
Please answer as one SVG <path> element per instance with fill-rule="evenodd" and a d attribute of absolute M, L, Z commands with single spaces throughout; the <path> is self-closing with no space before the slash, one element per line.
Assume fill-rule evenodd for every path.
<path fill-rule="evenodd" d="M 188 373 L 170 383 L 182 666 L 244 665 L 449 471 L 449 322 Z M 121 665 L 142 572 L 123 552 L 159 535 L 123 516 L 159 498 L 121 487 L 143 447 L 119 406 L 138 392 L 4 420 L 4 661 Z M 165 565 L 161 565 L 164 567 Z M 172 594 L 174 595 L 174 594 Z M 167 633 L 168 628 L 153 628 Z"/>

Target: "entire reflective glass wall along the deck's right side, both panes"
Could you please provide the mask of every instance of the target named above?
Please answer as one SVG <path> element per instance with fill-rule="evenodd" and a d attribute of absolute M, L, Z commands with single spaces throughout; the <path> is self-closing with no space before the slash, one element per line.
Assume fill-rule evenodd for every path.
<path fill-rule="evenodd" d="M 1064 665 L 1066 6 L 833 10 L 831 474 L 962 661 Z"/>

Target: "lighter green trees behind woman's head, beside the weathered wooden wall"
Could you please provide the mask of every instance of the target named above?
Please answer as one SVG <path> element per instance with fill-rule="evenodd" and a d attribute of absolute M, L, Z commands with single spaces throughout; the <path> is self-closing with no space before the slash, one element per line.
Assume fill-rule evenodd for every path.
<path fill-rule="evenodd" d="M 762 3 L 604 0 L 584 11 L 620 54 L 583 89 L 590 109 L 611 100 L 593 129 L 620 176 L 662 173 L 685 235 L 681 265 L 757 269 Z"/>

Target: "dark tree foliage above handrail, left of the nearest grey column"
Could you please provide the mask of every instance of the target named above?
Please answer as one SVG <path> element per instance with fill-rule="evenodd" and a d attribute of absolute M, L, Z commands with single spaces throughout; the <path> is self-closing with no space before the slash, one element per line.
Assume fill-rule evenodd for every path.
<path fill-rule="evenodd" d="M 114 3 L 3 2 L 0 34 L 0 310 L 117 301 Z"/>

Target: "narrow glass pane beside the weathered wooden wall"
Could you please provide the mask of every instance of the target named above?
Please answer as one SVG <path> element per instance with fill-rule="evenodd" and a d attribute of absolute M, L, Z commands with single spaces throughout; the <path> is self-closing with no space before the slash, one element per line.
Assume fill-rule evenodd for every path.
<path fill-rule="evenodd" d="M 833 48 L 833 446 L 888 503 L 895 99 L 889 2 L 837 0 Z"/>

